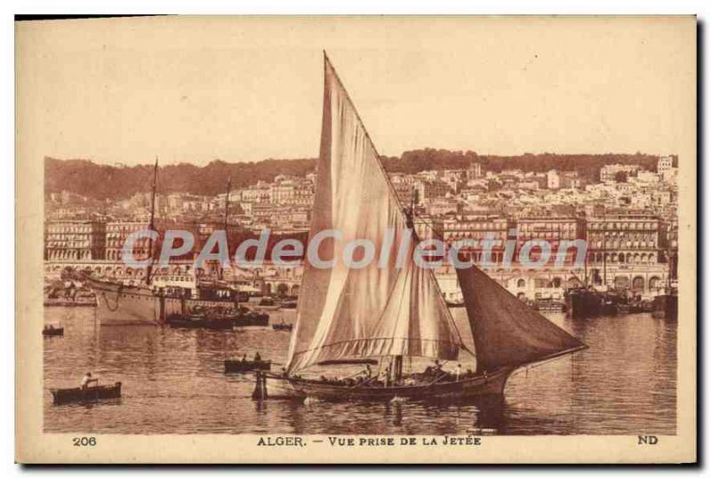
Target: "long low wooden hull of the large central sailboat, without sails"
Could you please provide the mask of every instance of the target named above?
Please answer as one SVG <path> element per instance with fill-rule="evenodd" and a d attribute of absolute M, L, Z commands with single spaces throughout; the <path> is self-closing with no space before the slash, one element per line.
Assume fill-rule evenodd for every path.
<path fill-rule="evenodd" d="M 267 398 L 314 398 L 325 402 L 387 402 L 454 400 L 486 395 L 502 395 L 514 368 L 502 368 L 487 375 L 414 386 L 345 386 L 318 380 L 266 376 Z M 259 378 L 258 378 L 259 379 Z"/>

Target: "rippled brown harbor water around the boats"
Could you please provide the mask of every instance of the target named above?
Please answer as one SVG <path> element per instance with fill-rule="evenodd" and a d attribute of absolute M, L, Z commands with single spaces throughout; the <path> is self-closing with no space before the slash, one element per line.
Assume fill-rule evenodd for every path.
<path fill-rule="evenodd" d="M 464 309 L 452 312 L 467 330 Z M 65 330 L 44 339 L 46 433 L 675 434 L 676 323 L 650 314 L 548 315 L 589 348 L 518 370 L 503 400 L 448 403 L 255 402 L 252 374 L 226 376 L 223 362 L 259 352 L 283 363 L 290 332 L 101 327 L 94 314 L 45 309 Z M 293 310 L 271 314 L 271 323 L 293 319 Z M 77 386 L 87 371 L 100 384 L 121 381 L 123 397 L 52 404 L 51 388 Z"/>

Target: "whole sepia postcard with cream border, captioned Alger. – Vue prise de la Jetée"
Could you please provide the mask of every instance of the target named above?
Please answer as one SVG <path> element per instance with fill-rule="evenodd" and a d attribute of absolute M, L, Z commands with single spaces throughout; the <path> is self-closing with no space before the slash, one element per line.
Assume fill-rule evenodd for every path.
<path fill-rule="evenodd" d="M 696 18 L 18 20 L 21 463 L 693 463 Z"/>

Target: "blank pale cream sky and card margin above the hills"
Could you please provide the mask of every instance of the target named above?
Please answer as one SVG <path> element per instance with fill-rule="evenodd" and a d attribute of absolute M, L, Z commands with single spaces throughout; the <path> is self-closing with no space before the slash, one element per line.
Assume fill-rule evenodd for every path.
<path fill-rule="evenodd" d="M 18 127 L 99 163 L 313 157 L 325 49 L 381 154 L 675 153 L 694 35 L 692 19 L 20 24 Z"/>

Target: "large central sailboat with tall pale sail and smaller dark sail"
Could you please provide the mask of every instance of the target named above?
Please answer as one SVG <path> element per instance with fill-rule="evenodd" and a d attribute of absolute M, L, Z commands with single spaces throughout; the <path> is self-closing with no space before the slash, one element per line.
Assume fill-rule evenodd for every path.
<path fill-rule="evenodd" d="M 324 52 L 324 112 L 309 241 L 324 230 L 340 232 L 339 241 L 321 243 L 324 261 L 343 257 L 344 244 L 353 240 L 368 240 L 376 250 L 392 253 L 386 267 L 371 262 L 352 268 L 335 260 L 332 267 L 319 268 L 305 261 L 286 366 L 281 374 L 258 372 L 253 398 L 378 401 L 503 394 L 514 370 L 587 347 L 471 265 L 457 269 L 474 338 L 471 350 L 434 272 L 413 260 L 419 237 L 412 219 Z M 403 235 L 412 240 L 405 242 L 402 267 L 395 267 Z M 474 355 L 476 367 L 464 375 L 438 373 L 438 368 L 434 374 L 403 373 L 405 358 L 435 360 L 439 367 L 465 354 Z M 306 378 L 309 370 L 326 364 L 372 360 L 387 373 L 359 380 Z"/>

